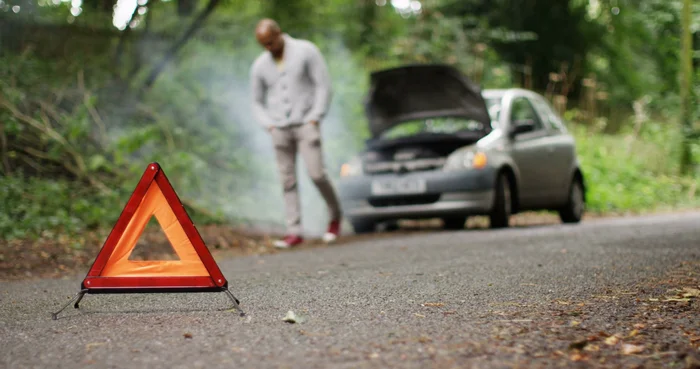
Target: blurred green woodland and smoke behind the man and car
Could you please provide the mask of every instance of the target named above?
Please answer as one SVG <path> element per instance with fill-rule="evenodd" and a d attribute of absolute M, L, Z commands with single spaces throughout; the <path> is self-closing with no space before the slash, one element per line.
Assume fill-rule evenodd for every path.
<path fill-rule="evenodd" d="M 0 0 L 0 238 L 108 231 L 152 161 L 199 224 L 283 225 L 250 108 L 262 17 L 326 57 L 334 179 L 368 137 L 368 74 L 440 62 L 552 102 L 576 135 L 589 212 L 700 204 L 697 1 Z M 325 208 L 299 170 L 303 222 L 320 233 Z"/>

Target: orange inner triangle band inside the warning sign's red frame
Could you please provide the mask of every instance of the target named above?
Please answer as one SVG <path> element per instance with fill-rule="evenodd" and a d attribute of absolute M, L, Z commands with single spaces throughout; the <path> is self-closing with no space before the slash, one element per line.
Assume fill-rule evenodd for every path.
<path fill-rule="evenodd" d="M 180 260 L 167 261 L 130 261 L 129 255 L 136 242 L 155 216 L 165 236 L 173 246 Z M 180 222 L 177 221 L 163 192 L 156 182 L 148 187 L 146 196 L 136 209 L 126 230 L 102 270 L 103 277 L 127 276 L 209 276 L 206 267 L 199 259 Z"/>

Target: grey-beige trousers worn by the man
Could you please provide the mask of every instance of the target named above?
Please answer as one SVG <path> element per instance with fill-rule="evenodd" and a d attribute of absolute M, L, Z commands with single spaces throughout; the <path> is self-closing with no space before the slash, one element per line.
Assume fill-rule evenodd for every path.
<path fill-rule="evenodd" d="M 297 153 L 301 154 L 309 177 L 328 207 L 331 220 L 340 219 L 338 196 L 326 173 L 321 145 L 321 129 L 314 124 L 275 128 L 271 132 L 277 168 L 284 191 L 287 232 L 301 235 L 301 204 L 297 185 Z"/>

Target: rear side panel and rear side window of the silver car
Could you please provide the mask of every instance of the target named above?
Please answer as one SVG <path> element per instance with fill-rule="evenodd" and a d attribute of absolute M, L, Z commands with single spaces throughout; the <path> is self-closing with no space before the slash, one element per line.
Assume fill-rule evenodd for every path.
<path fill-rule="evenodd" d="M 547 175 L 552 182 L 550 200 L 552 206 L 566 201 L 571 185 L 571 176 L 576 163 L 576 145 L 574 138 L 566 131 L 561 118 L 552 106 L 541 96 L 532 98 L 532 102 L 548 131 L 547 140 Z"/>

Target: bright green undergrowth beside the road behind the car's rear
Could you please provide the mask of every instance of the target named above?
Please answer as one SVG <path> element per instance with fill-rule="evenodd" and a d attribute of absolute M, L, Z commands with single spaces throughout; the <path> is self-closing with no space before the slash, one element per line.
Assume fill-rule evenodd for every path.
<path fill-rule="evenodd" d="M 679 134 L 674 126 L 647 123 L 638 136 L 631 130 L 604 135 L 574 126 L 588 187 L 588 210 L 625 213 L 700 205 L 699 176 L 678 175 Z"/>

